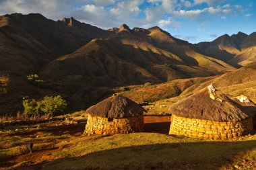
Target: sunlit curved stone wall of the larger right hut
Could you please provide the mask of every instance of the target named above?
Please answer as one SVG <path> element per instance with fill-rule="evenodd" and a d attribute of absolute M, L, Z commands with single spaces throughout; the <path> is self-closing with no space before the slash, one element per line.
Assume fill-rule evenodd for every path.
<path fill-rule="evenodd" d="M 214 122 L 172 115 L 169 134 L 195 138 L 228 139 L 249 134 L 251 130 L 253 130 L 252 118 L 238 122 Z"/>

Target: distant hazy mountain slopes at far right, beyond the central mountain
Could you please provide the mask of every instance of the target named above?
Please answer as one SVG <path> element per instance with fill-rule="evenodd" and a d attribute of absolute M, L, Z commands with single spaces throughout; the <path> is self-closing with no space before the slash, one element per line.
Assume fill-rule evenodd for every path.
<path fill-rule="evenodd" d="M 243 32 L 228 36 L 224 34 L 212 42 L 199 42 L 193 48 L 213 58 L 223 60 L 234 66 L 241 67 L 256 61 L 256 32 L 247 35 Z"/>

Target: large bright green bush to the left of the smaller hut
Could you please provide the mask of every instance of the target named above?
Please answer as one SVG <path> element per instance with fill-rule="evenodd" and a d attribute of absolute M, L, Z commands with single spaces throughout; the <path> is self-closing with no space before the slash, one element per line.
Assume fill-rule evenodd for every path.
<path fill-rule="evenodd" d="M 67 101 L 61 95 L 46 96 L 41 101 L 24 98 L 23 106 L 24 114 L 58 114 L 67 108 Z"/>

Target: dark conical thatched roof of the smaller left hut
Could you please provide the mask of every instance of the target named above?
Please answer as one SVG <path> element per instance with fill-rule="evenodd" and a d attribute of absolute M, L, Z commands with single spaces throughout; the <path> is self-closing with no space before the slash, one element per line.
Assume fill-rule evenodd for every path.
<path fill-rule="evenodd" d="M 127 97 L 113 95 L 88 108 L 86 112 L 102 118 L 127 118 L 142 115 L 147 111 Z"/>

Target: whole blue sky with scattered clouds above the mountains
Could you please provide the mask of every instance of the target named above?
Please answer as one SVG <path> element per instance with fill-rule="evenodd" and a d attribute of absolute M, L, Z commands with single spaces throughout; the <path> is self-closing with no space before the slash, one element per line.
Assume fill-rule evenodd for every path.
<path fill-rule="evenodd" d="M 255 0 L 0 0 L 0 15 L 6 13 L 73 16 L 104 29 L 159 26 L 192 43 L 256 31 Z"/>

